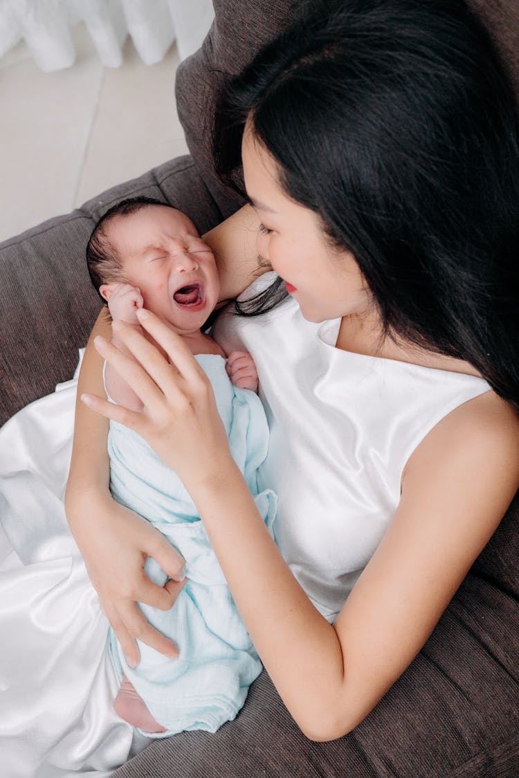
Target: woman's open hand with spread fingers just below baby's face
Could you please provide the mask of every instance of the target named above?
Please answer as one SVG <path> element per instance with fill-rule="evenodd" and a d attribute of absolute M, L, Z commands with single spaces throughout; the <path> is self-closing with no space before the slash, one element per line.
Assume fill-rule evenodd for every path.
<path fill-rule="evenodd" d="M 139 433 L 193 496 L 196 485 L 218 478 L 221 465 L 231 458 L 212 386 L 179 335 L 147 310 L 139 310 L 137 316 L 170 362 L 138 331 L 120 322 L 114 322 L 114 330 L 133 359 L 105 338 L 96 338 L 95 345 L 142 400 L 142 411 L 93 394 L 83 394 L 82 401 Z"/>

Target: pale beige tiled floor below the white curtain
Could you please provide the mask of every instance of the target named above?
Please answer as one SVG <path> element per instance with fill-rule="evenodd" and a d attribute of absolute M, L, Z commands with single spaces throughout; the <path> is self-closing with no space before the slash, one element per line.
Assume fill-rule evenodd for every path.
<path fill-rule="evenodd" d="M 124 65 L 103 68 L 84 25 L 73 37 L 67 70 L 41 72 L 25 44 L 0 59 L 0 240 L 187 152 L 176 47 L 144 65 L 128 38 Z"/>

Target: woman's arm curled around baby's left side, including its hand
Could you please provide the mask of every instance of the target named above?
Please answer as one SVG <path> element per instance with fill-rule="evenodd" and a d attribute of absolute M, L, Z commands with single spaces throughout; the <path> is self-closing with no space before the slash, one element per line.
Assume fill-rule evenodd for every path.
<path fill-rule="evenodd" d="M 86 345 L 78 398 L 83 391 L 104 396 L 103 359 L 93 348 L 96 335 L 111 336 L 110 318 L 104 309 Z M 77 400 L 65 493 L 68 524 L 128 664 L 134 666 L 139 662 L 137 637 L 163 654 L 177 657 L 177 647 L 149 626 L 135 601 L 162 610 L 171 608 L 183 584 L 175 580 L 170 580 L 166 587 L 152 584 L 144 573 L 144 563 L 147 556 L 153 556 L 174 578 L 181 574 L 183 559 L 151 524 L 111 498 L 107 433 L 107 420 Z"/>

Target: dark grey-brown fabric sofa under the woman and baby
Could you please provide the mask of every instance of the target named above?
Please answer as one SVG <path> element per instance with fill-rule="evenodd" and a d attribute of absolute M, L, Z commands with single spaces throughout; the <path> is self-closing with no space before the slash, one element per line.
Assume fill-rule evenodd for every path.
<path fill-rule="evenodd" d="M 496 33 L 519 92 L 519 9 L 473 0 Z M 163 198 L 202 233 L 240 205 L 212 173 L 209 123 L 223 72 L 236 72 L 289 16 L 286 0 L 216 0 L 201 51 L 177 75 L 192 156 L 174 159 L 0 246 L 0 422 L 71 377 L 99 310 L 84 249 L 117 200 Z M 514 57 L 517 59 L 514 60 Z M 169 96 L 164 96 L 169 99 Z M 155 741 L 118 778 L 519 775 L 519 499 L 402 678 L 359 727 L 331 743 L 303 737 L 264 672 L 237 720 L 216 734 Z"/>

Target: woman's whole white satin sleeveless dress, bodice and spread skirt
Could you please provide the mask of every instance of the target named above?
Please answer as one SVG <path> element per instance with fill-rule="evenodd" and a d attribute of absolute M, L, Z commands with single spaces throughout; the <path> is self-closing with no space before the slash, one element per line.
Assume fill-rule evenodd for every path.
<path fill-rule="evenodd" d="M 335 349 L 338 324 L 310 324 L 290 300 L 214 332 L 258 366 L 271 428 L 258 486 L 277 492 L 276 539 L 330 621 L 391 520 L 409 455 L 489 388 Z M 74 402 L 71 381 L 0 430 L 2 778 L 105 778 L 132 738 L 145 742 L 114 713 L 107 620 L 65 520 Z"/>

